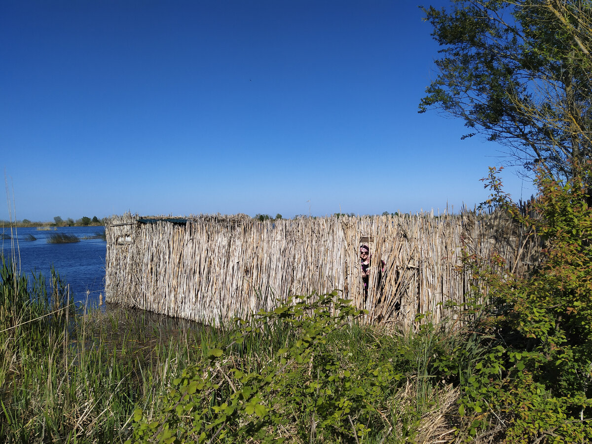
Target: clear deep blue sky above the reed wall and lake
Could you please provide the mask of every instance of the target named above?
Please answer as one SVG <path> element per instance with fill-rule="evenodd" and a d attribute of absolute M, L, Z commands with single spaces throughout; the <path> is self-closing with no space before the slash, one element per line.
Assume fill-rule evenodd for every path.
<path fill-rule="evenodd" d="M 500 147 L 417 114 L 438 50 L 419 4 L 0 0 L 16 218 L 472 207 Z"/>

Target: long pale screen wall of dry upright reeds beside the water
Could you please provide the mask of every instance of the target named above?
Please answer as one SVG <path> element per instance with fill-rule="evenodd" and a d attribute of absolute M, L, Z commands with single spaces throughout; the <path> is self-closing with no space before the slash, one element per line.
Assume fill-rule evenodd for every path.
<path fill-rule="evenodd" d="M 438 321 L 450 314 L 442 303 L 463 302 L 477 283 L 464 254 L 484 262 L 499 255 L 509 271 L 540 254 L 503 215 L 466 210 L 275 221 L 125 214 L 111 217 L 105 233 L 108 302 L 213 325 L 333 289 L 368 310 L 368 322 L 410 327 L 419 313 Z M 372 254 L 367 294 L 363 243 Z"/>

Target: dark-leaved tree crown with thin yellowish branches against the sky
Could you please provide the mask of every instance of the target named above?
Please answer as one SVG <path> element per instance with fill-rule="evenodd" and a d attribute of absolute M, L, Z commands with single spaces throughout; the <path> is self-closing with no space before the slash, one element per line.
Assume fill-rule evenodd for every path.
<path fill-rule="evenodd" d="M 511 163 L 570 178 L 592 150 L 592 3 L 454 0 L 424 9 L 442 46 L 420 112 L 460 117 Z"/>

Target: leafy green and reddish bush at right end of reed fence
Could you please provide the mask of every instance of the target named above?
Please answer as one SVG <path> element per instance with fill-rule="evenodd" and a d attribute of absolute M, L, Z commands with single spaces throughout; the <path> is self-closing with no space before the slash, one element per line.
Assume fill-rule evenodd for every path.
<path fill-rule="evenodd" d="M 496 175 L 492 170 L 490 202 L 532 227 L 544 242 L 544 259 L 530 276 L 494 271 L 500 269 L 499 258 L 489 268 L 474 266 L 490 288 L 488 298 L 472 304 L 478 316 L 471 333 L 442 353 L 433 371 L 461 387 L 459 414 L 471 435 L 487 427 L 487 433 L 501 433 L 510 443 L 590 442 L 590 173 L 566 184 L 540 173 L 534 215 L 521 214 L 507 200 Z M 478 259 L 467 260 L 473 266 Z"/>

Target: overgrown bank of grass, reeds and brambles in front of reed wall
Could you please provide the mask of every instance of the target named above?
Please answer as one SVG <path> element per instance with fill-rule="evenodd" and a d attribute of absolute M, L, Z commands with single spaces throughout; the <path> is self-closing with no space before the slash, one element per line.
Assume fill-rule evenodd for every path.
<path fill-rule="evenodd" d="M 212 430 L 211 442 L 238 432 L 239 442 L 263 442 L 264 435 L 377 443 L 454 437 L 457 391 L 428 372 L 440 346 L 435 330 L 400 334 L 319 317 L 333 303 L 318 300 L 303 300 L 307 313 L 321 310 L 313 325 L 294 321 L 293 312 L 221 330 L 128 311 L 85 314 L 57 273 L 30 283 L 6 263 L 1 298 L 0 436 L 8 442 L 137 440 L 142 424 L 170 422 L 171 393 L 184 382 L 193 387 L 202 370 L 210 375 L 204 387 L 211 384 L 194 392 L 194 402 L 208 424 L 220 420 L 224 403 L 242 406 L 227 415 L 226 434 L 214 437 Z M 311 347 L 304 346 L 311 334 Z M 249 390 L 264 414 L 252 395 L 245 397 Z"/>

